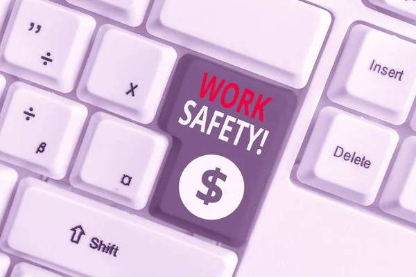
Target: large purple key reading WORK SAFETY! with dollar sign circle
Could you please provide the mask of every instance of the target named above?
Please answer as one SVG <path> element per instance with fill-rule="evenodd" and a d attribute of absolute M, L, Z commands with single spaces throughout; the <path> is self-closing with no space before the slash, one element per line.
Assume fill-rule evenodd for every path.
<path fill-rule="evenodd" d="M 291 124 L 295 93 L 186 55 L 165 103 L 159 125 L 175 139 L 150 213 L 241 246 Z"/>

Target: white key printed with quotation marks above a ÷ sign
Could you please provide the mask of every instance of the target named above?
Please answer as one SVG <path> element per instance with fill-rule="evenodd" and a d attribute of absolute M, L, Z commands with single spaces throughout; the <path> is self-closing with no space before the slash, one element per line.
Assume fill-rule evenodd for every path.
<path fill-rule="evenodd" d="M 68 93 L 78 77 L 95 20 L 51 1 L 18 0 L 0 46 L 0 69 Z"/>

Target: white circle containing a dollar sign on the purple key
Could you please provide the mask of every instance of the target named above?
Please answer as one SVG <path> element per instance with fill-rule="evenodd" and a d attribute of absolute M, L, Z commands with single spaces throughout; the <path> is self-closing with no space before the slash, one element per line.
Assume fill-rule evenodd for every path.
<path fill-rule="evenodd" d="M 185 207 L 204 220 L 219 220 L 240 205 L 244 179 L 229 159 L 205 155 L 191 161 L 180 175 L 179 195 Z"/>

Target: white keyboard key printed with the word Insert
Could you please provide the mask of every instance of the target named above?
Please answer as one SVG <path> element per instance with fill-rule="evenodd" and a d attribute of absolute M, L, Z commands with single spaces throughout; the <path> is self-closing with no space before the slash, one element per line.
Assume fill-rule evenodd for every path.
<path fill-rule="evenodd" d="M 349 34 L 328 96 L 333 102 L 400 125 L 416 96 L 416 44 L 356 25 Z"/>

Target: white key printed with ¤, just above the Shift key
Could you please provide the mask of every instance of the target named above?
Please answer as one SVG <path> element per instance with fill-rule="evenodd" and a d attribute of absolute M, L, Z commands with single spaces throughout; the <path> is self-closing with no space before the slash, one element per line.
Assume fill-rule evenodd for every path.
<path fill-rule="evenodd" d="M 71 184 L 131 208 L 144 208 L 167 148 L 166 136 L 98 112 L 89 122 Z"/>

